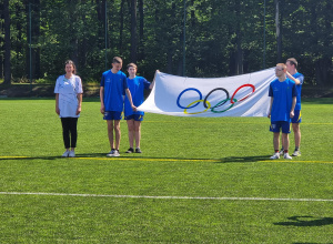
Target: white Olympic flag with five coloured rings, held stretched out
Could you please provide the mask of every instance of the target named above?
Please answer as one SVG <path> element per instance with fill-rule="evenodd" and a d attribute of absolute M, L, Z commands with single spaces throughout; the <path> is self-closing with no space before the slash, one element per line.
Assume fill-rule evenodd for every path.
<path fill-rule="evenodd" d="M 228 78 L 185 78 L 162 72 L 139 111 L 175 116 L 266 116 L 274 68 Z"/>

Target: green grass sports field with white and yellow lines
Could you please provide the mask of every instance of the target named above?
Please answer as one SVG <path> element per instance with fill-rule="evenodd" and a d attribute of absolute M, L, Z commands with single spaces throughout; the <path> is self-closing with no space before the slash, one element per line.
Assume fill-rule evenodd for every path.
<path fill-rule="evenodd" d="M 271 161 L 266 118 L 147 114 L 110 151 L 85 99 L 75 159 L 53 100 L 0 100 L 0 243 L 333 243 L 332 99 L 304 100 L 302 156 Z M 293 151 L 294 141 L 291 136 Z"/>

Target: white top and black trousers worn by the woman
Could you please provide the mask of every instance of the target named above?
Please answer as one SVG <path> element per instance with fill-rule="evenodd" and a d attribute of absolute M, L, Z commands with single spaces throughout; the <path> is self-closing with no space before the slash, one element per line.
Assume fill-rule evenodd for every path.
<path fill-rule="evenodd" d="M 77 124 L 80 116 L 80 114 L 77 115 L 78 94 L 83 93 L 81 78 L 72 74 L 70 79 L 67 79 L 65 75 L 60 75 L 56 82 L 54 93 L 59 94 L 59 116 L 62 123 L 64 148 L 77 148 Z M 71 140 L 69 134 L 71 134 Z"/>

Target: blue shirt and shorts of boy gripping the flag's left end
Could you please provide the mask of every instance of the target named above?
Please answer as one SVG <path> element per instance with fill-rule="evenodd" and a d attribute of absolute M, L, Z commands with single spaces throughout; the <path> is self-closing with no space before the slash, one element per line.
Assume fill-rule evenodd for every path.
<path fill-rule="evenodd" d="M 128 85 L 132 95 L 132 101 L 134 106 L 139 106 L 143 103 L 144 98 L 143 98 L 143 89 L 149 89 L 150 82 L 147 81 L 142 77 L 135 77 L 134 79 L 128 78 Z M 124 115 L 129 116 L 132 114 L 140 114 L 143 115 L 144 112 L 142 111 L 137 111 L 134 112 L 132 110 L 131 103 L 128 98 L 125 98 L 124 102 Z"/>

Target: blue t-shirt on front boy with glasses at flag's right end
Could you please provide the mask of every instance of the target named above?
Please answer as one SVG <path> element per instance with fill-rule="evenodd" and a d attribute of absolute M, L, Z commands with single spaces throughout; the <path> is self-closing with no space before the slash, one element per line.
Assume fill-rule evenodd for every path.
<path fill-rule="evenodd" d="M 290 122 L 290 111 L 293 103 L 293 98 L 297 96 L 296 84 L 290 79 L 280 82 L 279 79 L 270 84 L 269 96 L 273 96 L 271 111 L 271 121 L 287 121 Z"/>

